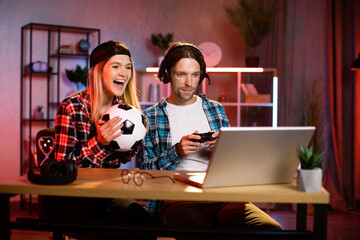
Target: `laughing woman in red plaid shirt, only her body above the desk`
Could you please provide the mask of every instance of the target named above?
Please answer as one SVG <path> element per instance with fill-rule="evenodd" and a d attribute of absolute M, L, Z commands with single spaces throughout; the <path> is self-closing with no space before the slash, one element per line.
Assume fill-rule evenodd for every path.
<path fill-rule="evenodd" d="M 141 110 L 136 95 L 135 69 L 130 51 L 108 41 L 90 55 L 88 88 L 66 98 L 55 120 L 55 158 L 73 159 L 79 167 L 118 168 L 134 153 L 113 151 L 108 144 L 121 135 L 121 119 L 102 121 L 101 115 L 119 102 Z"/>

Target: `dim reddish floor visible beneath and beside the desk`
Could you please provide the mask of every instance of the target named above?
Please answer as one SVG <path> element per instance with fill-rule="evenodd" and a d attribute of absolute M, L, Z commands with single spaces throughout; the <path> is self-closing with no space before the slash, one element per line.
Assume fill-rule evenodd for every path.
<path fill-rule="evenodd" d="M 10 203 L 11 219 L 18 217 L 36 217 L 36 200 L 32 204 L 32 214 L 29 214 L 29 205 L 25 204 L 25 210 L 20 210 L 20 201 Z M 276 205 L 266 210 L 286 230 L 295 229 L 296 215 L 293 205 Z M 308 207 L 308 229 L 312 230 L 312 207 Z M 360 240 L 360 210 L 349 213 L 338 213 L 332 210 L 328 212 L 328 240 Z M 11 240 L 49 240 L 49 232 L 33 232 L 13 230 Z M 158 238 L 158 240 L 170 240 L 173 238 Z"/>

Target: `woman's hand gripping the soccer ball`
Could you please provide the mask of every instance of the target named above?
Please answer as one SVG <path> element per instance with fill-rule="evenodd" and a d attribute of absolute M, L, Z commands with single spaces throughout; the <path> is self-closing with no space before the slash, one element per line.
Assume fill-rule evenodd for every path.
<path fill-rule="evenodd" d="M 120 124 L 121 118 L 114 117 L 109 121 L 105 122 L 100 119 L 96 124 L 96 132 L 99 142 L 103 145 L 109 145 L 109 143 L 120 136 L 122 131 L 119 131 L 123 124 Z M 117 131 L 119 131 L 117 133 Z"/>

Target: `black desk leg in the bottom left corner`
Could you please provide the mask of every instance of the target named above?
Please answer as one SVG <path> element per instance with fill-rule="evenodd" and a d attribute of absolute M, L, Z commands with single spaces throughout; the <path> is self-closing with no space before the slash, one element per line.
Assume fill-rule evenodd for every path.
<path fill-rule="evenodd" d="M 0 194 L 0 236 L 9 239 L 10 231 L 10 195 Z"/>

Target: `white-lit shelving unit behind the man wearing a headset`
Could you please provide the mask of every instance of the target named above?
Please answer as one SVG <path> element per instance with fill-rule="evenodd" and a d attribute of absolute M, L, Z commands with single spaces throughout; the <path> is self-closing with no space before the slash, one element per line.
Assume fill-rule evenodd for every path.
<path fill-rule="evenodd" d="M 221 101 L 225 111 L 230 119 L 231 126 L 249 126 L 243 121 L 250 118 L 250 115 L 264 115 L 261 126 L 277 127 L 278 115 L 278 78 L 277 71 L 274 68 L 239 68 L 239 67 L 216 67 L 207 68 L 211 86 L 208 86 L 204 80 L 202 83 L 202 91 L 209 99 L 219 100 L 221 92 L 227 91 L 228 99 Z M 156 83 L 154 77 L 150 74 L 158 72 L 157 67 L 146 68 L 146 73 L 140 74 L 141 91 L 147 91 L 149 83 Z M 224 80 L 224 81 L 222 81 Z M 233 87 L 236 82 L 236 87 Z M 250 82 L 261 91 L 259 93 L 270 94 L 271 102 L 268 103 L 247 103 L 244 102 L 244 95 L 241 90 L 241 83 Z M 169 84 L 161 84 L 161 96 L 167 96 L 170 93 Z M 151 106 L 154 102 L 148 101 L 148 95 L 143 94 L 142 105 L 144 108 Z M 255 109 L 255 110 L 254 110 Z M 253 117 L 253 116 L 252 116 Z M 258 116 L 259 117 L 259 116 Z M 250 126 L 254 126 L 251 122 Z"/>

